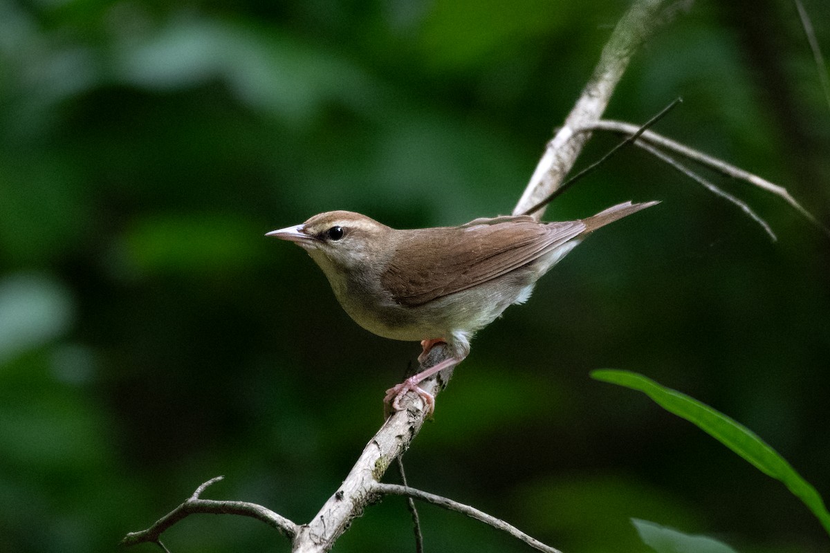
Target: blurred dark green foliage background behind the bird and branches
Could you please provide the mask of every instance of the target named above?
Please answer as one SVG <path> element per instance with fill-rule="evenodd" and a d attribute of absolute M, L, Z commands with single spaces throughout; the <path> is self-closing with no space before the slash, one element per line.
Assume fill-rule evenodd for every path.
<path fill-rule="evenodd" d="M 830 50 L 830 4 L 804 0 Z M 320 211 L 391 226 L 510 212 L 627 2 L 0 1 L 0 550 L 115 551 L 199 483 L 307 521 L 382 421 L 417 344 L 352 323 L 299 248 Z M 826 69 L 826 68 L 825 68 Z M 787 187 L 830 221 L 830 107 L 790 2 L 696 2 L 608 117 Z M 618 138 L 596 135 L 580 158 Z M 564 551 L 649 551 L 630 517 L 742 553 L 828 551 L 781 484 L 645 396 L 724 411 L 830 497 L 830 240 L 777 198 L 636 148 L 548 219 L 598 232 L 482 331 L 406 456 L 417 488 Z M 388 481 L 395 481 L 393 471 Z M 528 551 L 422 507 L 427 551 Z M 413 551 L 400 498 L 335 551 Z M 193 517 L 173 551 L 288 551 Z M 156 551 L 139 546 L 134 551 Z"/>

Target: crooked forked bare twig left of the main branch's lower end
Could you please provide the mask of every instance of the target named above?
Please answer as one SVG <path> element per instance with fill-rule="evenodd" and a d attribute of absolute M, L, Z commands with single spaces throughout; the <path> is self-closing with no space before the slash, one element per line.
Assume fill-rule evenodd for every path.
<path fill-rule="evenodd" d="M 256 503 L 242 502 L 242 501 L 215 501 L 212 499 L 202 499 L 202 492 L 213 483 L 222 480 L 222 476 L 211 478 L 206 483 L 196 488 L 193 495 L 188 497 L 181 505 L 168 512 L 164 517 L 155 521 L 153 526 L 146 530 L 129 532 L 123 540 L 121 545 L 134 546 L 139 543 L 155 543 L 159 545 L 164 551 L 167 548 L 159 540 L 159 536 L 173 526 L 178 521 L 189 515 L 194 514 L 211 514 L 211 515 L 241 515 L 242 517 L 256 518 L 256 520 L 265 522 L 268 526 L 279 530 L 283 536 L 293 538 L 299 531 L 299 526 L 294 522 L 288 520 L 286 517 L 276 514 L 266 507 L 257 505 Z"/>

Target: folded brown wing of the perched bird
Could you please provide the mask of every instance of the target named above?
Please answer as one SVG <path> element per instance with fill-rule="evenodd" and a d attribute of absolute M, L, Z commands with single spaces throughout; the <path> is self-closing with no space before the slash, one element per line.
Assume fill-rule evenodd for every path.
<path fill-rule="evenodd" d="M 518 269 L 583 230 L 582 221 L 540 225 L 530 217 L 417 230 L 401 240 L 382 284 L 395 302 L 422 305 Z"/>

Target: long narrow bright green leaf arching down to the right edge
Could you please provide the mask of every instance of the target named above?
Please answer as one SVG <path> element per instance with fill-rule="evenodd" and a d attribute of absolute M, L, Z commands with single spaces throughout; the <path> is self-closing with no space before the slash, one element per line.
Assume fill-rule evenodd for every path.
<path fill-rule="evenodd" d="M 631 371 L 593 371 L 598 381 L 642 391 L 663 409 L 688 420 L 721 444 L 745 458 L 762 473 L 779 480 L 818 518 L 830 536 L 830 512 L 816 488 L 813 488 L 781 455 L 752 430 L 679 391 L 666 388 L 646 376 Z"/>

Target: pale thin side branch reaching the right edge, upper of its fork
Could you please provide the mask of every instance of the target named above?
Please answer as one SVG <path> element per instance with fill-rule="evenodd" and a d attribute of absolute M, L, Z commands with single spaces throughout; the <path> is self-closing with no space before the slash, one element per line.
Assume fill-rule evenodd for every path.
<path fill-rule="evenodd" d="M 623 133 L 623 134 L 632 134 L 636 133 L 637 125 L 625 123 L 623 121 L 613 121 L 613 120 L 602 120 L 597 121 L 592 124 L 588 124 L 587 127 L 584 129 L 577 129 L 577 132 L 588 132 L 593 130 L 604 130 L 610 131 L 613 133 Z M 796 201 L 793 196 L 787 192 L 787 189 L 784 187 L 779 187 L 779 185 L 774 184 L 773 182 L 769 182 L 768 180 L 761 178 L 757 175 L 754 175 L 750 172 L 741 169 L 740 167 L 735 167 L 730 163 L 726 163 L 725 161 L 714 158 L 706 153 L 702 153 L 700 150 L 696 150 L 694 148 L 689 148 L 685 144 L 681 144 L 672 140 L 671 138 L 666 138 L 662 136 L 662 134 L 655 133 L 654 131 L 647 130 L 646 132 L 642 133 L 642 135 L 637 138 L 637 145 L 645 143 L 650 143 L 654 146 L 658 146 L 659 148 L 663 148 L 666 150 L 670 150 L 671 152 L 679 153 L 684 158 L 689 158 L 692 161 L 701 164 L 704 167 L 709 167 L 717 172 L 720 172 L 727 177 L 736 178 L 741 181 L 749 182 L 749 184 L 753 185 L 754 187 L 759 187 L 760 189 L 769 192 L 770 194 L 774 194 L 775 196 L 779 196 L 782 200 L 786 201 L 789 206 L 791 206 L 795 211 L 803 216 L 807 221 L 810 221 L 814 226 L 816 226 L 819 230 L 822 230 L 824 234 L 830 236 L 830 229 L 827 226 L 824 226 L 821 222 L 819 222 L 813 214 L 803 208 L 801 204 Z"/>

